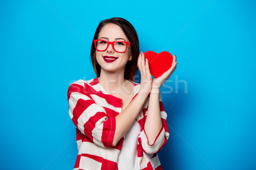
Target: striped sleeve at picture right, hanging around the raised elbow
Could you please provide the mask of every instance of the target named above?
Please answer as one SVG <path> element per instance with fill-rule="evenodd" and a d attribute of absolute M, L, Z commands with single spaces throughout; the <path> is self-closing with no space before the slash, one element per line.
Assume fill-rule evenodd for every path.
<path fill-rule="evenodd" d="M 157 153 L 158 151 L 160 151 L 163 148 L 163 146 L 166 144 L 167 139 L 169 138 L 169 130 L 168 130 L 167 122 L 166 122 L 167 114 L 163 108 L 161 94 L 159 94 L 159 105 L 160 105 L 160 116 L 162 119 L 162 127 L 161 127 L 154 143 L 148 144 L 148 137 L 145 133 L 144 128 L 141 131 L 139 138 L 138 138 L 138 142 L 142 146 L 143 151 L 148 154 L 153 154 L 153 153 Z M 147 105 L 143 106 L 143 111 L 145 111 L 145 113 L 143 113 L 143 115 L 145 115 L 144 119 L 146 119 L 146 114 L 148 111 L 148 100 L 147 100 Z M 145 123 L 145 121 L 143 121 L 143 122 Z"/>

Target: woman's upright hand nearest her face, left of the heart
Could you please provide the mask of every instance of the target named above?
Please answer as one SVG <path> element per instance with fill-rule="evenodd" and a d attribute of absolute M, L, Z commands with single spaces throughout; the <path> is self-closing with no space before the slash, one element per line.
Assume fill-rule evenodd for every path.
<path fill-rule="evenodd" d="M 138 64 L 137 64 L 140 75 L 141 75 L 141 86 L 140 86 L 140 92 L 141 94 L 145 94 L 148 96 L 151 92 L 152 88 L 152 76 L 149 71 L 148 66 L 148 59 L 145 59 L 145 55 L 141 51 L 138 57 Z"/>

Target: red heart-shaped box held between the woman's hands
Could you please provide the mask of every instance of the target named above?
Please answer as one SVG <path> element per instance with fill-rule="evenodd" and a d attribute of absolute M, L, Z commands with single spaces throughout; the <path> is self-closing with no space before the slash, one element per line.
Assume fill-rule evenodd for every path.
<path fill-rule="evenodd" d="M 145 58 L 148 59 L 149 70 L 155 78 L 160 77 L 164 72 L 172 67 L 172 54 L 162 51 L 159 54 L 154 51 L 146 51 Z"/>

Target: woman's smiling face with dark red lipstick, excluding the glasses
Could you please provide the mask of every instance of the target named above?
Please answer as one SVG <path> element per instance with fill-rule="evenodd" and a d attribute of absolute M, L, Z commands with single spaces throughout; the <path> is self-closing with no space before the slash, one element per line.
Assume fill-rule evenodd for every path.
<path fill-rule="evenodd" d="M 130 42 L 122 29 L 113 23 L 102 27 L 99 32 L 99 40 L 106 41 L 126 41 Z M 112 45 L 109 45 L 105 51 L 96 51 L 96 59 L 101 66 L 101 71 L 120 72 L 125 70 L 128 60 L 131 60 L 131 47 L 128 45 L 124 53 L 114 51 Z M 112 58 L 112 59 L 109 59 Z"/>

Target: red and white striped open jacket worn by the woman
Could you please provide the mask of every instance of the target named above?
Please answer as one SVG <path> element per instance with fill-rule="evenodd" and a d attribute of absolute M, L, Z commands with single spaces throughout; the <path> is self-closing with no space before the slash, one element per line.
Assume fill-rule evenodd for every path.
<path fill-rule="evenodd" d="M 140 84 L 133 82 L 134 97 Z M 68 88 L 69 115 L 76 125 L 78 156 L 74 170 L 118 170 L 117 161 L 124 137 L 114 147 L 112 145 L 116 129 L 115 117 L 122 111 L 122 99 L 108 94 L 98 78 L 78 80 Z M 133 98 L 134 99 L 134 98 Z M 169 138 L 161 95 L 159 95 L 162 128 L 154 144 L 148 144 L 144 130 L 149 97 L 137 116 L 141 132 L 137 142 L 137 162 L 140 170 L 162 170 L 157 152 Z"/>

